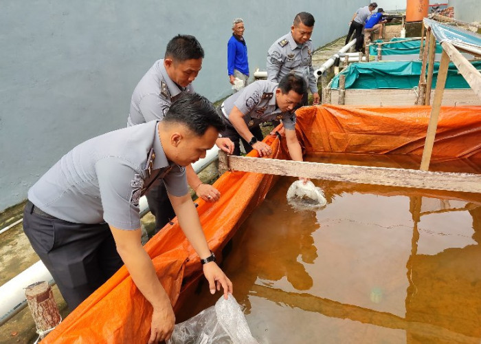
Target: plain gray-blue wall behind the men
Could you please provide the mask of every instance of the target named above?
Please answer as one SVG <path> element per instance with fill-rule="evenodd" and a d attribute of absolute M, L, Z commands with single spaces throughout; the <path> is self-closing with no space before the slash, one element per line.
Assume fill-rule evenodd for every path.
<path fill-rule="evenodd" d="M 323 4 L 325 3 L 325 4 Z M 245 20 L 251 72 L 305 10 L 316 47 L 347 33 L 361 0 L 5 0 L 0 11 L 0 211 L 76 144 L 126 125 L 132 91 L 178 33 L 205 50 L 197 92 L 230 93 L 226 45 Z"/>

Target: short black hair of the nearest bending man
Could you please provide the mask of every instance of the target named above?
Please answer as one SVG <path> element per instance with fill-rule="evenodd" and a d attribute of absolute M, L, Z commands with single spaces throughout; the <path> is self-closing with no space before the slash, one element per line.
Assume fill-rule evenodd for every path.
<path fill-rule="evenodd" d="M 219 132 L 225 130 L 225 120 L 219 116 L 214 105 L 197 93 L 182 92 L 162 122 L 185 125 L 198 136 L 203 136 L 209 127 Z"/>

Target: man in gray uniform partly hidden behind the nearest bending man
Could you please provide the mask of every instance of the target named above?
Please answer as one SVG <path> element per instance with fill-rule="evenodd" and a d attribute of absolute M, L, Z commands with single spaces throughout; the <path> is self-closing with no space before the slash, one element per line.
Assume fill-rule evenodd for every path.
<path fill-rule="evenodd" d="M 192 81 L 202 67 L 204 51 L 194 36 L 177 35 L 169 41 L 165 58 L 156 61 L 135 87 L 127 126 L 139 125 L 150 120 L 162 120 L 170 105 L 181 92 L 194 92 Z M 216 144 L 232 153 L 234 144 L 227 138 L 219 138 Z M 216 202 L 221 193 L 210 184 L 203 184 L 192 166 L 186 166 L 190 187 L 207 202 Z M 155 216 L 155 232 L 163 228 L 175 216 L 164 184 L 151 188 L 146 195 L 150 212 Z"/>

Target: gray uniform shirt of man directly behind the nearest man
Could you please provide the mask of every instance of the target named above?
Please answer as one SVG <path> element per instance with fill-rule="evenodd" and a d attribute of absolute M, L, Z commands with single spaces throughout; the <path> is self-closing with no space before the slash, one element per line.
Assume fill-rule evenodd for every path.
<path fill-rule="evenodd" d="M 162 120 L 172 105 L 172 98 L 183 91 L 194 93 L 194 87 L 190 84 L 179 88 L 169 78 L 164 67 L 164 59 L 156 61 L 133 91 L 127 127 L 150 120 Z"/>

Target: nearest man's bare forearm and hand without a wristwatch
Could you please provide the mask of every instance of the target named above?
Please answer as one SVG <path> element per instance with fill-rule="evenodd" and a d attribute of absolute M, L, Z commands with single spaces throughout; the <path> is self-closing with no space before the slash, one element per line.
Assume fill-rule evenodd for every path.
<path fill-rule="evenodd" d="M 153 307 L 150 338 L 157 343 L 170 338 L 175 325 L 175 314 L 170 299 L 155 272 L 152 260 L 140 243 L 140 228 L 121 230 L 110 227 L 117 251 L 131 274 L 133 283 Z"/>

